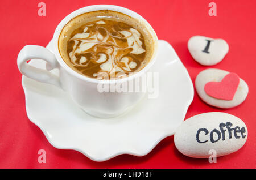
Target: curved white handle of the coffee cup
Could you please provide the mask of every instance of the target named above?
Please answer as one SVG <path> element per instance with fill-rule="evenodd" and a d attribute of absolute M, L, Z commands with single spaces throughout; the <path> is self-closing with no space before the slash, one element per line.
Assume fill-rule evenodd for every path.
<path fill-rule="evenodd" d="M 43 59 L 46 61 L 46 70 L 30 66 L 27 63 L 30 59 Z M 17 65 L 19 71 L 28 78 L 38 80 L 42 83 L 56 85 L 61 88 L 60 78 L 49 72 L 54 68 L 59 68 L 59 63 L 57 62 L 55 55 L 43 46 L 24 46 L 19 52 Z"/>

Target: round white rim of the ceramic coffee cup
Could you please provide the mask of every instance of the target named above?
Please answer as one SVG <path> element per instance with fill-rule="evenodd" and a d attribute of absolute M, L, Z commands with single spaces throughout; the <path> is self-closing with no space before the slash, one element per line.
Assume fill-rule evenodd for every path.
<path fill-rule="evenodd" d="M 143 23 L 147 26 L 147 28 L 150 31 L 152 38 L 154 40 L 155 47 L 154 47 L 154 53 L 152 55 L 150 62 L 148 62 L 147 65 L 141 71 L 136 72 L 135 74 L 133 74 L 131 76 L 127 76 L 126 78 L 122 78 L 122 79 L 100 80 L 100 79 L 89 78 L 87 76 L 81 75 L 78 72 L 72 70 L 72 68 L 69 67 L 67 65 L 67 63 L 64 62 L 63 58 L 60 55 L 59 48 L 58 48 L 59 36 L 60 36 L 60 33 L 61 33 L 63 27 L 69 22 L 69 20 L 71 20 L 72 18 L 75 18 L 76 16 L 78 16 L 80 14 L 84 14 L 86 12 L 91 12 L 91 11 L 98 11 L 98 10 L 112 10 L 112 11 L 122 12 L 123 14 L 131 16 L 132 18 L 136 18 L 136 19 L 143 21 Z M 154 64 L 154 62 L 156 60 L 156 53 L 158 52 L 158 38 L 156 36 L 154 29 L 146 21 L 146 19 L 144 19 L 141 15 L 137 14 L 136 12 L 131 11 L 125 7 L 114 6 L 114 5 L 86 6 L 86 7 L 80 8 L 79 10 L 71 12 L 71 14 L 66 16 L 63 20 L 61 20 L 59 25 L 57 25 L 57 28 L 53 35 L 53 44 L 54 44 L 53 46 L 54 46 L 54 50 L 55 50 L 56 59 L 59 62 L 59 64 L 63 68 L 65 68 L 65 70 L 67 70 L 67 72 L 69 72 L 69 74 L 71 74 L 81 80 L 85 80 L 86 82 L 90 82 L 90 83 L 104 83 L 104 84 L 105 83 L 107 83 L 107 84 L 123 83 L 123 82 L 129 81 L 129 80 L 138 78 L 139 76 L 141 76 L 145 72 L 147 72 L 150 69 L 150 67 Z"/>

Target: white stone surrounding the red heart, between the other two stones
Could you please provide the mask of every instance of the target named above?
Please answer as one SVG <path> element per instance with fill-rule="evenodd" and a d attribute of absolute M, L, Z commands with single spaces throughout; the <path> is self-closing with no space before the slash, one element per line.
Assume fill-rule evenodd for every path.
<path fill-rule="evenodd" d="M 217 108 L 233 108 L 234 106 L 240 105 L 243 101 L 245 101 L 249 88 L 246 82 L 241 78 L 233 100 L 221 100 L 211 97 L 205 93 L 204 86 L 206 83 L 220 82 L 227 74 L 229 74 L 228 71 L 209 68 L 207 70 L 201 71 L 196 76 L 196 92 L 204 102 Z"/>

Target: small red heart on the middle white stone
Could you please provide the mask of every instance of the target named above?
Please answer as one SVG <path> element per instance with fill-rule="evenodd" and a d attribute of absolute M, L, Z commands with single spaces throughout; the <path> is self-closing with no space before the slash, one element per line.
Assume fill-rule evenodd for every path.
<path fill-rule="evenodd" d="M 221 100 L 233 100 L 240 78 L 235 73 L 227 74 L 221 82 L 208 82 L 204 85 L 207 95 Z"/>

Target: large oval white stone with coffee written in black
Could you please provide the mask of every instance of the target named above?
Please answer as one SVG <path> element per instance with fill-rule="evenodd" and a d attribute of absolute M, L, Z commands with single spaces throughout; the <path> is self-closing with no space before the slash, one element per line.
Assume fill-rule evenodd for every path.
<path fill-rule="evenodd" d="M 225 125 L 221 126 L 223 130 L 220 125 Z M 212 151 L 219 157 L 240 149 L 247 135 L 245 123 L 234 115 L 203 113 L 188 118 L 177 128 L 174 143 L 181 153 L 189 157 L 208 158 Z"/>

